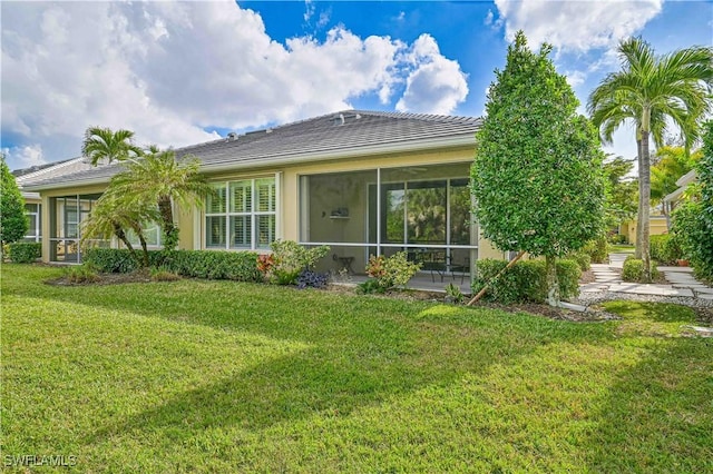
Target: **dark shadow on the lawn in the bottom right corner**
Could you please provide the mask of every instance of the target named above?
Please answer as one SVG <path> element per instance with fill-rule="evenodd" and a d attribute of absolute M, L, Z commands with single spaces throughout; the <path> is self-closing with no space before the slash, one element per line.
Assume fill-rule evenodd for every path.
<path fill-rule="evenodd" d="M 671 316 L 673 317 L 673 316 Z M 664 320 L 670 320 L 663 315 Z M 713 340 L 658 339 L 596 414 L 592 472 L 713 470 Z"/>

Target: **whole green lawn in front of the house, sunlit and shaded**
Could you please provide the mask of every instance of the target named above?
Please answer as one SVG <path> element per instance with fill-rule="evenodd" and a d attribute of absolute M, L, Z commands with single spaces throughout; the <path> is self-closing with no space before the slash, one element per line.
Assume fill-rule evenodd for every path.
<path fill-rule="evenodd" d="M 622 322 L 574 324 L 231 282 L 42 283 L 60 274 L 2 267 L 6 464 L 713 470 L 713 344 L 680 336 L 687 308 L 615 302 Z"/>

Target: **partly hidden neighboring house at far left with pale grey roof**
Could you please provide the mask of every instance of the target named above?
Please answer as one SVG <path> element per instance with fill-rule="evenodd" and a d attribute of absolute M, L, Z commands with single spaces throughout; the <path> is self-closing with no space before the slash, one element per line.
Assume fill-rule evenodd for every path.
<path fill-rule="evenodd" d="M 91 165 L 87 164 L 82 158 L 74 158 L 12 171 L 20 192 L 25 198 L 25 211 L 29 219 L 25 241 L 42 240 L 42 199 L 39 192 L 28 191 L 25 187 L 32 182 L 72 175 L 87 169 L 91 169 Z"/>

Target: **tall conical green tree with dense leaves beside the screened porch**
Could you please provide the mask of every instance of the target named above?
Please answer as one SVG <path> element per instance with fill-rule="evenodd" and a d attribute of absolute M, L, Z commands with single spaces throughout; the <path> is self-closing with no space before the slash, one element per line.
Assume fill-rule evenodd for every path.
<path fill-rule="evenodd" d="M 556 257 L 582 248 L 604 224 L 603 152 L 564 76 L 519 31 L 490 85 L 471 170 L 476 216 L 504 250 L 545 256 L 548 303 L 559 304 Z"/>

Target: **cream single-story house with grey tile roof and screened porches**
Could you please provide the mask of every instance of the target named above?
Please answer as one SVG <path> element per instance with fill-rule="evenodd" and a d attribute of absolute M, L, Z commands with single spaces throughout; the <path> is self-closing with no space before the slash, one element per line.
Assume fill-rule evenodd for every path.
<path fill-rule="evenodd" d="M 472 117 L 348 110 L 177 149 L 215 186 L 178 213 L 179 248 L 270 251 L 275 239 L 329 245 L 322 270 L 363 273 L 369 255 L 446 255 L 468 268 L 499 257 L 479 237 L 468 188 Z M 33 178 L 42 259 L 80 261 L 81 221 L 120 165 Z M 472 273 L 471 273 L 472 274 Z"/>

